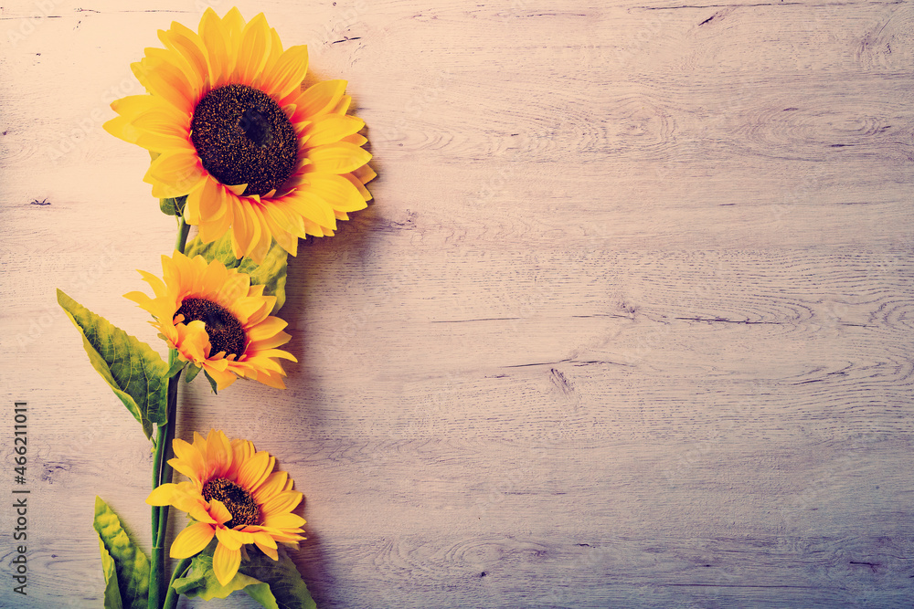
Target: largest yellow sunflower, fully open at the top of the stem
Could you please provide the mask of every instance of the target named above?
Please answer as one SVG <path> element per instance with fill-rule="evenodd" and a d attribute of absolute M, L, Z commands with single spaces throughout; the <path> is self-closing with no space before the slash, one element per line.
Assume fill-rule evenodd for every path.
<path fill-rule="evenodd" d="M 260 262 L 271 238 L 294 256 L 298 237 L 332 236 L 367 206 L 365 123 L 346 114 L 345 80 L 302 90 L 306 46 L 283 50 L 262 13 L 245 23 L 237 8 L 159 38 L 131 65 L 149 94 L 115 100 L 104 128 L 153 154 L 143 181 L 159 198 L 186 194 L 205 243 L 230 231 L 235 257 Z"/>

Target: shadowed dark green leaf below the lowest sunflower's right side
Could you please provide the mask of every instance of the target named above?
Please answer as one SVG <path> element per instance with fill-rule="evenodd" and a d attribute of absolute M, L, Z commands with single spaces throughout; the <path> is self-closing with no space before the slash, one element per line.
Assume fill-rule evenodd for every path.
<path fill-rule="evenodd" d="M 301 573 L 282 548 L 279 550 L 279 561 L 272 560 L 260 550 L 248 553 L 250 560 L 241 562 L 239 572 L 266 584 L 245 588 L 251 598 L 268 609 L 317 609 Z"/>

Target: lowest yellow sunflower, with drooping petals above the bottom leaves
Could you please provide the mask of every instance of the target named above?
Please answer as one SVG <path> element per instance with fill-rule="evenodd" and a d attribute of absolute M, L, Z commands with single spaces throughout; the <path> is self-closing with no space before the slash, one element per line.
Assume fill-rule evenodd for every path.
<path fill-rule="evenodd" d="M 304 519 L 292 513 L 303 495 L 292 490 L 287 473 L 273 472 L 275 457 L 255 453 L 248 440 L 229 442 L 215 429 L 206 438 L 194 432 L 193 444 L 175 439 L 172 447 L 175 458 L 168 464 L 190 480 L 163 484 L 146 499 L 151 506 L 174 506 L 196 520 L 178 533 L 172 558 L 194 556 L 215 536 L 213 571 L 226 585 L 238 572 L 243 545 L 253 543 L 276 561 L 277 541 L 295 546 L 304 539 Z"/>

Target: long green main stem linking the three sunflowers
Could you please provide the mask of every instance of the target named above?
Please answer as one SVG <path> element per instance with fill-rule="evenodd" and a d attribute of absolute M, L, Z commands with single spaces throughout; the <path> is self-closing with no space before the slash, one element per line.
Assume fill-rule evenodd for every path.
<path fill-rule="evenodd" d="M 179 215 L 177 220 L 177 237 L 175 249 L 182 254 L 187 244 L 187 235 L 190 226 L 185 222 L 184 216 Z M 168 352 L 168 367 L 177 359 L 177 351 Z M 168 401 L 165 411 L 165 423 L 159 425 L 155 436 L 155 453 L 153 457 L 153 488 L 171 482 L 172 467 L 168 465 L 168 456 L 171 453 L 172 441 L 175 439 L 175 418 L 177 416 L 177 387 L 181 380 L 181 373 L 168 379 Z M 149 572 L 149 609 L 159 609 L 162 598 L 162 584 L 165 575 L 165 537 L 168 534 L 168 506 L 154 506 L 152 510 L 153 523 L 153 552 L 152 564 Z M 173 578 L 174 579 L 174 578 Z M 165 594 L 165 602 L 171 596 L 171 587 Z M 177 597 L 173 604 L 177 602 Z"/>

